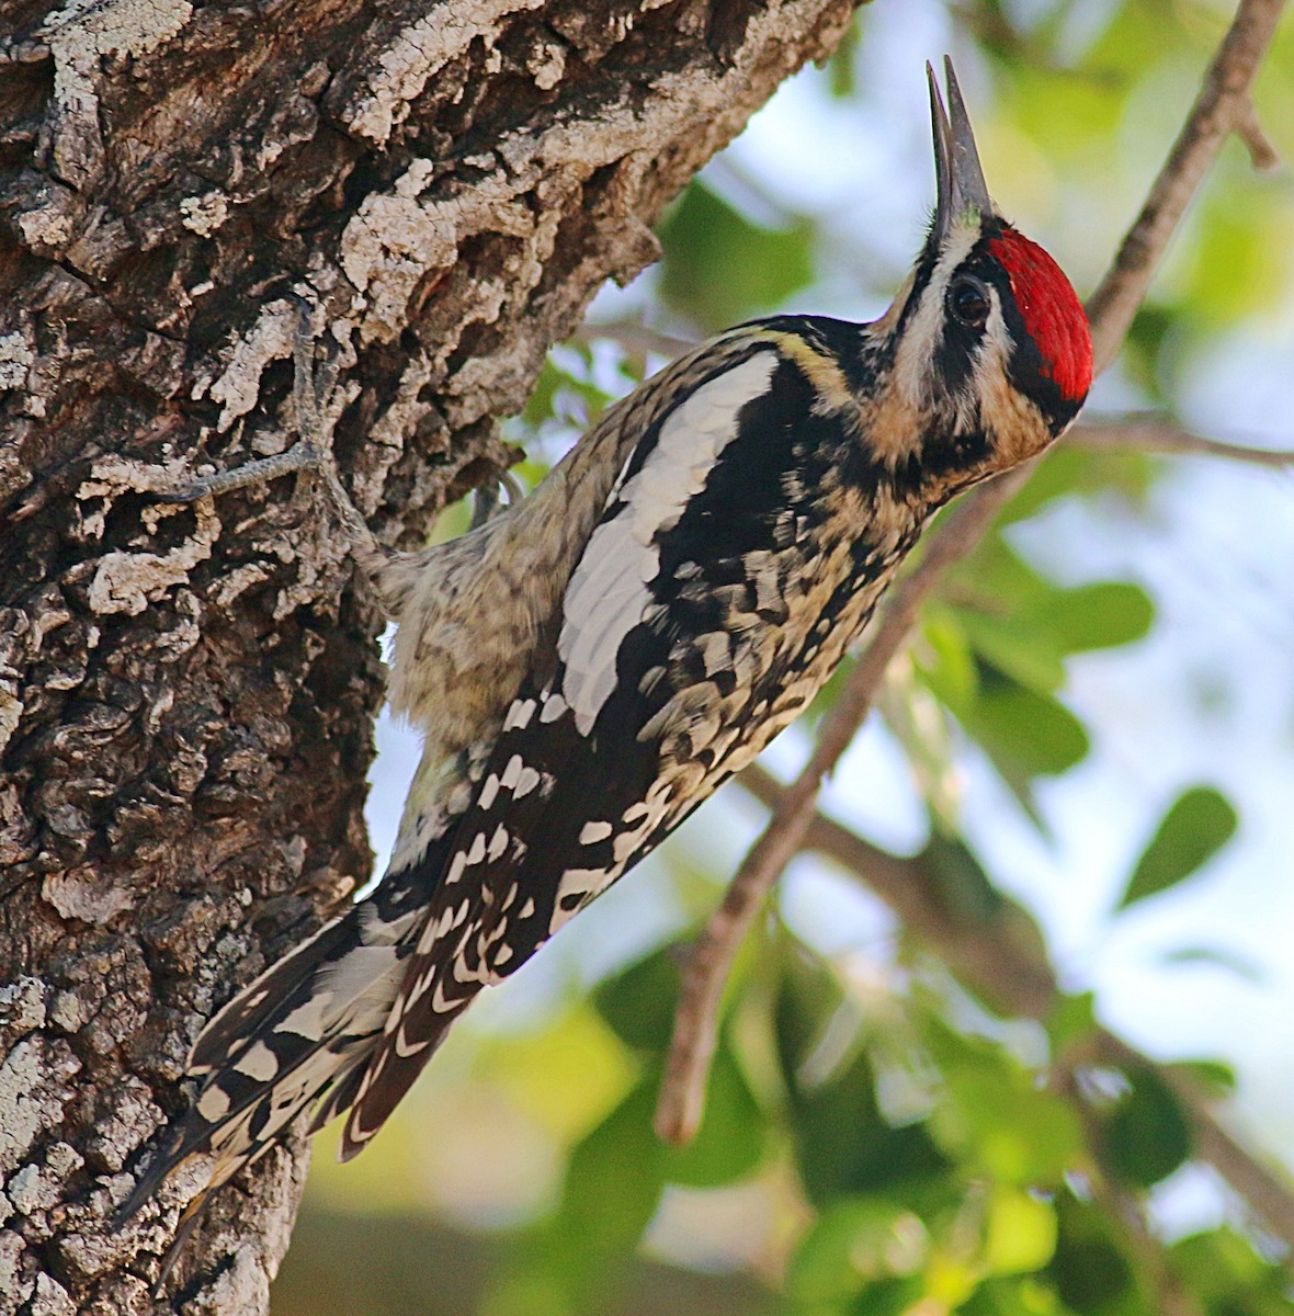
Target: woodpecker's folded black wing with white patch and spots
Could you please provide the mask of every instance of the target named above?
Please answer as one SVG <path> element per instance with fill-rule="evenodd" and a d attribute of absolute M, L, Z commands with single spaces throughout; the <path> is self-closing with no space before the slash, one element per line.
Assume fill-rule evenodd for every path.
<path fill-rule="evenodd" d="M 806 454 L 839 429 L 814 415 L 814 397 L 802 367 L 752 332 L 633 449 L 546 661 L 511 704 L 455 830 L 342 1155 L 380 1128 L 480 987 L 528 959 L 807 701 L 808 632 L 787 625 L 812 601 L 817 472 Z"/>

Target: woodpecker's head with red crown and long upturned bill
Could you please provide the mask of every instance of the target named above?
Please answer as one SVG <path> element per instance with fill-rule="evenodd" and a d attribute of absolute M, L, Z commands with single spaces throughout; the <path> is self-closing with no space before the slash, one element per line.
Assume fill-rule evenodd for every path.
<path fill-rule="evenodd" d="M 875 325 L 890 378 L 867 426 L 877 455 L 896 475 L 916 476 L 936 501 L 1041 451 L 1078 415 L 1091 384 L 1082 304 L 1061 267 L 994 207 L 950 62 L 946 68 L 948 112 L 927 64 L 935 218 L 903 291 Z"/>

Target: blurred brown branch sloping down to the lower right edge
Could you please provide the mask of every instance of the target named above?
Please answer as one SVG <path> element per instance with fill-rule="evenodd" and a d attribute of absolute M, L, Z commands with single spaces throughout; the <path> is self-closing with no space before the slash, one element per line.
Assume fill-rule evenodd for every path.
<path fill-rule="evenodd" d="M 789 790 L 758 766 L 748 767 L 737 782 L 770 811 L 781 808 Z M 1040 1023 L 1053 1016 L 1062 999 L 1060 986 L 1035 949 L 1039 941 L 1033 929 L 1028 929 L 1033 934 L 1016 930 L 1020 917 L 1016 911 L 1007 907 L 1007 913 L 979 921 L 969 920 L 965 912 L 953 915 L 940 896 L 939 875 L 920 857 L 903 859 L 890 854 L 821 813 L 808 821 L 804 849 L 827 855 L 861 878 L 910 933 L 994 1009 Z M 1104 1028 L 1095 1030 L 1086 1057 L 1119 1070 L 1154 1069 L 1186 1111 L 1194 1133 L 1194 1157 L 1212 1166 L 1294 1253 L 1294 1191 L 1223 1128 L 1210 1099 L 1189 1074 L 1152 1061 Z"/>

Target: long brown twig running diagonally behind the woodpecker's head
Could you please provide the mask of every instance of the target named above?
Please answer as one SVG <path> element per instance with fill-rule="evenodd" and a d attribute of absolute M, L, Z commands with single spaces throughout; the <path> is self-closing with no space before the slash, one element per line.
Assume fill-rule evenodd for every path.
<path fill-rule="evenodd" d="M 1149 199 L 1087 307 L 1095 366 L 1103 370 L 1123 342 L 1191 195 L 1224 138 L 1249 113 L 1249 87 L 1276 29 L 1282 0 L 1240 0 L 1204 84 Z M 1252 116 L 1251 116 L 1252 117 Z M 957 509 L 925 541 L 920 565 L 891 591 L 871 640 L 827 719 L 804 771 L 746 855 L 723 903 L 698 938 L 679 988 L 674 1036 L 656 1111 L 657 1134 L 687 1142 L 700 1126 L 706 1082 L 717 1037 L 724 983 L 769 888 L 804 842 L 821 780 L 866 717 L 885 669 L 902 646 L 921 601 L 944 569 L 964 557 L 1028 479 L 1028 467 L 999 476 Z"/>

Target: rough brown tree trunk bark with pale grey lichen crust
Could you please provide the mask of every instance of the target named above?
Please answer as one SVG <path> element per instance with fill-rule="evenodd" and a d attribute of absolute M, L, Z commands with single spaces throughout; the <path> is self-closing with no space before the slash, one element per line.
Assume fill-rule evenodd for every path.
<path fill-rule="evenodd" d="M 201 1021 L 367 875 L 376 613 L 280 482 L 295 299 L 408 546 L 495 420 L 852 0 L 30 0 L 0 9 L 0 1313 L 262 1312 L 300 1145 L 108 1219 Z M 192 1186 L 190 1186 L 191 1188 Z"/>

